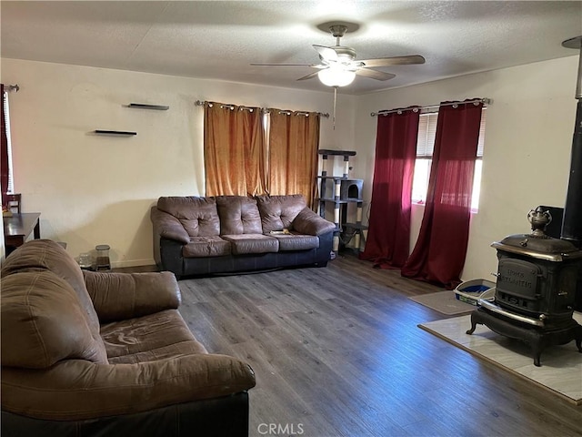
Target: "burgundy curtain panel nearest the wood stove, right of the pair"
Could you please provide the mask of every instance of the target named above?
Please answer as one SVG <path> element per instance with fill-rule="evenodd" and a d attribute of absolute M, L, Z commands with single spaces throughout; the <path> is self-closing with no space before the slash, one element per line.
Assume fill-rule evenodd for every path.
<path fill-rule="evenodd" d="M 461 282 L 467 254 L 483 104 L 444 104 L 438 109 L 425 214 L 415 249 L 401 273 L 453 290 Z"/>

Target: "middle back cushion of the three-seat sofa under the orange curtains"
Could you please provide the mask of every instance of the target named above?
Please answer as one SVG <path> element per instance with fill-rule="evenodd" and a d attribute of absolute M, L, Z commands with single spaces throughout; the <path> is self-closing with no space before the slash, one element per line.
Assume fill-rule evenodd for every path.
<path fill-rule="evenodd" d="M 218 196 L 216 206 L 220 217 L 220 235 L 263 233 L 255 198 Z"/>

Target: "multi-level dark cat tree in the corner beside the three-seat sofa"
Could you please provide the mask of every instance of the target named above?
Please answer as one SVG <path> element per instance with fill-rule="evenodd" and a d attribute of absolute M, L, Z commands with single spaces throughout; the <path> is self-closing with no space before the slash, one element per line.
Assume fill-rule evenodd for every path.
<path fill-rule="evenodd" d="M 330 150 L 320 149 L 319 155 L 322 156 L 322 171 L 319 179 L 319 215 L 326 217 L 327 206 L 334 208 L 334 223 L 336 231 L 334 232 L 333 250 L 337 253 L 340 249 L 345 248 L 351 239 L 354 238 L 356 249 L 360 249 L 362 244 L 366 243 L 363 231 L 367 229 L 362 225 L 362 188 L 363 179 L 349 178 L 349 158 L 356 155 L 353 150 Z M 331 161 L 332 168 L 328 170 L 328 158 L 333 157 Z M 333 176 L 333 166 L 335 158 L 344 159 L 344 173 L 342 176 Z M 328 175 L 328 171 L 332 176 Z M 348 222 L 348 208 L 350 205 L 356 206 L 356 222 Z"/>

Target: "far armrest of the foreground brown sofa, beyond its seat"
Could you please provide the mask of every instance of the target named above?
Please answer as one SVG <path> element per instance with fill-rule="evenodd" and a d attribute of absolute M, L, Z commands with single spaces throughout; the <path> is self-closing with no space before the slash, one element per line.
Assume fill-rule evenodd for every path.
<path fill-rule="evenodd" d="M 180 289 L 169 271 L 110 273 L 83 270 L 100 323 L 133 319 L 180 305 Z"/>

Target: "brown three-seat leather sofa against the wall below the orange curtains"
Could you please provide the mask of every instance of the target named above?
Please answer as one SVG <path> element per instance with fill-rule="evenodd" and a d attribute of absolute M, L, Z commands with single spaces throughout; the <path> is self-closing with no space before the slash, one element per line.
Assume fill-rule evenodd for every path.
<path fill-rule="evenodd" d="M 301 195 L 165 197 L 151 210 L 154 257 L 182 276 L 325 267 L 334 223 Z"/>

